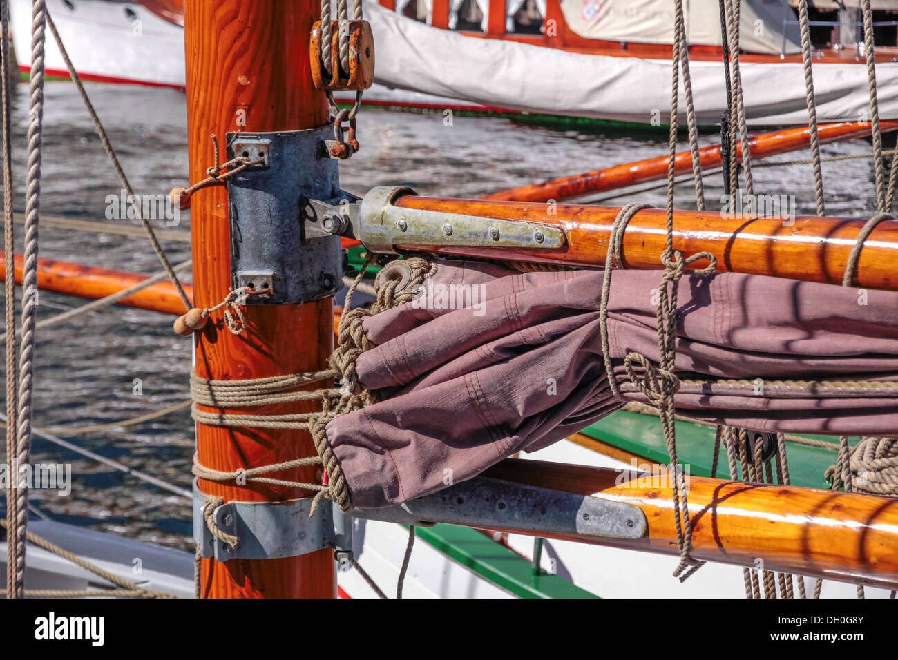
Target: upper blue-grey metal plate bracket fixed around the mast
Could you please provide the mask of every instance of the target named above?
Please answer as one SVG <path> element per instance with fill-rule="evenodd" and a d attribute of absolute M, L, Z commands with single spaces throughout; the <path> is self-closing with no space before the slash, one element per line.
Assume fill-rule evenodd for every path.
<path fill-rule="evenodd" d="M 339 236 L 316 231 L 306 212 L 308 200 L 340 194 L 327 136 L 330 126 L 227 134 L 228 160 L 254 163 L 227 179 L 233 287 L 270 292 L 248 296 L 246 304 L 308 303 L 342 286 Z"/>

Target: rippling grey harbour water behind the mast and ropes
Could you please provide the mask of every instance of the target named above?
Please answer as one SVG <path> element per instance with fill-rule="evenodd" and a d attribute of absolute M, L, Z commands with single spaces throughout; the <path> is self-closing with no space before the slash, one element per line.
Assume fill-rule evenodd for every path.
<path fill-rule="evenodd" d="M 136 193 L 158 194 L 183 185 L 188 172 L 186 107 L 180 92 L 89 84 L 88 91 Z M 14 109 L 13 161 L 16 209 L 24 207 L 27 89 L 20 85 Z M 341 165 L 344 189 L 363 194 L 374 185 L 408 185 L 422 194 L 476 197 L 562 174 L 666 153 L 665 131 L 657 140 L 622 133 L 587 134 L 517 125 L 508 119 L 418 115 L 363 110 L 358 119 L 362 150 Z M 48 83 L 44 115 L 42 212 L 101 220 L 106 197 L 119 184 L 81 99 L 72 84 Z M 703 136 L 702 144 L 715 141 Z M 823 155 L 859 154 L 863 140 L 824 145 Z M 806 158 L 806 152 L 774 160 Z M 827 212 L 869 216 L 875 207 L 869 159 L 824 163 Z M 809 165 L 758 169 L 755 190 L 795 195 L 798 214 L 814 213 Z M 722 178 L 706 180 L 709 207 L 718 206 Z M 691 183 L 676 189 L 677 206 L 694 208 Z M 665 190 L 617 198 L 656 206 Z M 182 230 L 189 229 L 181 216 Z M 136 224 L 136 221 L 132 221 Z M 163 221 L 155 221 L 163 227 Z M 17 225 L 22 251 L 22 225 Z M 189 258 L 189 243 L 163 242 L 172 262 Z M 42 257 L 102 268 L 155 273 L 159 264 L 144 239 L 114 234 L 73 233 L 43 227 Z M 40 294 L 40 318 L 81 304 L 52 292 Z M 86 426 L 131 418 L 189 398 L 190 340 L 172 333 L 172 318 L 156 312 L 113 307 L 40 332 L 35 373 L 34 423 L 38 427 Z M 140 393 L 136 393 L 139 379 Z M 59 434 L 65 437 L 65 434 Z M 67 439 L 132 468 L 190 488 L 193 423 L 184 409 L 123 431 Z M 190 547 L 190 507 L 182 499 L 121 472 L 82 459 L 35 438 L 33 462 L 68 462 L 73 484 L 67 497 L 34 490 L 31 502 L 42 515 L 69 524 L 114 532 L 181 549 Z"/>

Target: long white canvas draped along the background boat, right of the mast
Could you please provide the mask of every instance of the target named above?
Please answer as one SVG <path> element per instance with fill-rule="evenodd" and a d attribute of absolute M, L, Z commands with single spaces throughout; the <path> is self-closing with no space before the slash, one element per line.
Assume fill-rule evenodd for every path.
<path fill-rule="evenodd" d="M 669 60 L 586 55 L 467 37 L 372 2 L 365 3 L 365 19 L 374 30 L 374 80 L 389 88 L 511 110 L 643 124 L 660 120 L 670 108 Z M 800 62 L 743 62 L 741 71 L 749 124 L 807 123 Z M 726 110 L 723 64 L 692 61 L 691 76 L 698 120 L 717 124 Z M 878 64 L 876 84 L 880 116 L 898 118 L 898 63 Z M 814 64 L 814 91 L 819 121 L 869 119 L 863 63 Z M 679 107 L 685 111 L 682 91 Z"/>

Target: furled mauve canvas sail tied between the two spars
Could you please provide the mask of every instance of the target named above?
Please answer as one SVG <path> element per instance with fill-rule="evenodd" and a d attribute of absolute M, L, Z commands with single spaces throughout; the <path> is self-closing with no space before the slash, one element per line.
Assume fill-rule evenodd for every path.
<path fill-rule="evenodd" d="M 612 277 L 608 330 L 623 358 L 658 363 L 656 271 Z M 439 260 L 412 303 L 365 321 L 357 374 L 381 401 L 330 421 L 353 504 L 401 503 L 554 443 L 623 402 L 599 333 L 602 271 L 518 273 Z M 898 293 L 762 276 L 688 274 L 679 284 L 678 412 L 764 431 L 894 436 L 894 389 L 840 393 L 780 380 L 898 380 Z M 759 386 L 760 383 L 760 386 Z"/>

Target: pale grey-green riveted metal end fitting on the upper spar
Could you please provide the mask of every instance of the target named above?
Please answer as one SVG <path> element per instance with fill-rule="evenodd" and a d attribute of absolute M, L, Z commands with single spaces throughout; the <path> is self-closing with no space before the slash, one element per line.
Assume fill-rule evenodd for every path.
<path fill-rule="evenodd" d="M 369 190 L 361 204 L 349 205 L 352 236 L 366 249 L 388 254 L 395 253 L 397 245 L 557 250 L 567 241 L 564 232 L 548 224 L 393 206 L 393 200 L 401 195 L 417 194 L 409 188 L 391 186 Z"/>

